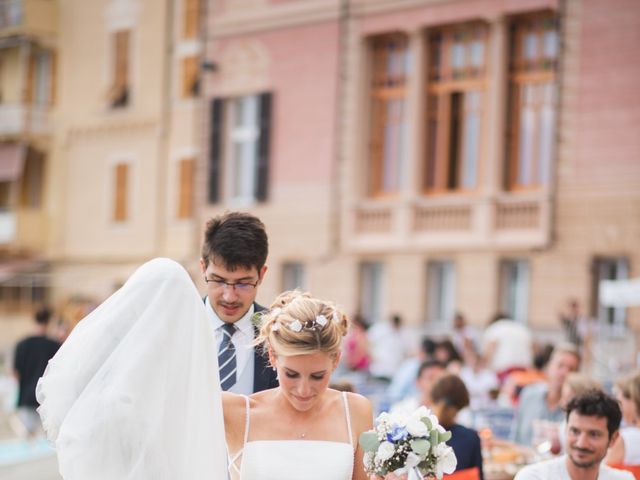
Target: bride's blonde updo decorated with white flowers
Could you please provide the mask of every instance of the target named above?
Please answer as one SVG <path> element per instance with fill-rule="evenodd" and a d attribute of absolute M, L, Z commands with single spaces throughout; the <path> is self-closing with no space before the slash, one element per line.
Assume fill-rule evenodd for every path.
<path fill-rule="evenodd" d="M 332 303 L 309 293 L 281 293 L 269 310 L 261 312 L 256 344 L 276 355 L 293 356 L 324 352 L 337 357 L 349 320 Z"/>

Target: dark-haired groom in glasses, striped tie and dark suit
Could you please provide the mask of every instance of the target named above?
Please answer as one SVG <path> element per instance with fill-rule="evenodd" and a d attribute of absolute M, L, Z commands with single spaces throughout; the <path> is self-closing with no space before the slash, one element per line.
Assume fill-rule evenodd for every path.
<path fill-rule="evenodd" d="M 223 390 L 249 395 L 278 386 L 276 373 L 252 342 L 251 323 L 264 307 L 255 303 L 267 271 L 267 232 L 257 217 L 229 212 L 209 220 L 200 270 L 207 282 L 205 306 L 215 329 Z"/>

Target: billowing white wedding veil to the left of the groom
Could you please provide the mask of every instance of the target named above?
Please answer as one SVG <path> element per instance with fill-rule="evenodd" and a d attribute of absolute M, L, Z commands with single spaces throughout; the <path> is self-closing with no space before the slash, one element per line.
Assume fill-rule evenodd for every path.
<path fill-rule="evenodd" d="M 73 330 L 36 394 L 65 480 L 227 477 L 213 328 L 157 258 Z"/>

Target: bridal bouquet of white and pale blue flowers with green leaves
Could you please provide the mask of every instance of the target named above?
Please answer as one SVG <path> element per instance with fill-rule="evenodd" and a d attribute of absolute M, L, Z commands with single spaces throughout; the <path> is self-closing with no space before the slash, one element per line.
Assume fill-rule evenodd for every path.
<path fill-rule="evenodd" d="M 451 438 L 426 407 L 410 415 L 383 412 L 373 430 L 360 435 L 364 468 L 368 475 L 393 472 L 409 480 L 436 477 L 456 469 L 456 456 L 445 443 Z"/>

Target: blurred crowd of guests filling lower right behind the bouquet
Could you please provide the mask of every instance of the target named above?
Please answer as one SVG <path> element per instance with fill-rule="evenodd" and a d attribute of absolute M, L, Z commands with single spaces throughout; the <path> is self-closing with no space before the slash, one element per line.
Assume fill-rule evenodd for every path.
<path fill-rule="evenodd" d="M 481 330 L 458 312 L 449 332 L 424 336 L 412 350 L 398 315 L 370 328 L 356 315 L 344 365 L 379 382 L 378 411 L 430 408 L 453 433 L 458 470 L 477 469 L 484 478 L 483 454 L 498 445 L 528 452 L 540 465 L 523 469 L 519 480 L 633 478 L 600 463 L 640 469 L 640 371 L 602 385 L 581 370 L 593 328 L 575 300 L 560 312 L 559 326 L 562 340 L 537 344 L 526 325 L 503 313 Z M 604 444 L 583 441 L 585 419 L 604 422 Z M 593 458 L 581 461 L 587 453 Z"/>

